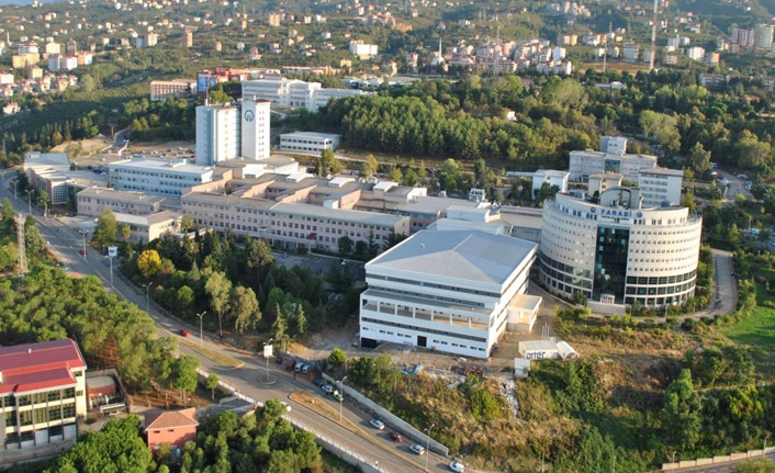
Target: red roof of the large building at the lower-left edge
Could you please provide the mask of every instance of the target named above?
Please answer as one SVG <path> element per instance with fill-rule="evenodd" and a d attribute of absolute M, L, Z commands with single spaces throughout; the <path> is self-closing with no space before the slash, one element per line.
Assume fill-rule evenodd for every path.
<path fill-rule="evenodd" d="M 0 347 L 0 394 L 75 384 L 75 368 L 86 368 L 86 361 L 69 338 Z"/>

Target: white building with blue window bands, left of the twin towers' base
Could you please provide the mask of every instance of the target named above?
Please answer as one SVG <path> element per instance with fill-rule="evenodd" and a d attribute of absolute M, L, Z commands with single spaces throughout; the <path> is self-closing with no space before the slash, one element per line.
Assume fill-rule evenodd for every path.
<path fill-rule="evenodd" d="M 183 189 L 213 180 L 213 169 L 189 164 L 186 159 L 125 159 L 108 165 L 110 183 L 120 191 L 175 196 Z"/>

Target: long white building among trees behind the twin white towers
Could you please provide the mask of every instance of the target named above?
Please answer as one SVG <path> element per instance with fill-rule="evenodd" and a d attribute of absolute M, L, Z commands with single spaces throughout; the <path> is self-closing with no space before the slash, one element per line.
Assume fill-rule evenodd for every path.
<path fill-rule="evenodd" d="M 319 82 L 284 77 L 243 81 L 243 99 L 268 100 L 274 105 L 305 108 L 313 113 L 332 99 L 368 94 L 370 92 L 353 89 L 323 89 Z"/>

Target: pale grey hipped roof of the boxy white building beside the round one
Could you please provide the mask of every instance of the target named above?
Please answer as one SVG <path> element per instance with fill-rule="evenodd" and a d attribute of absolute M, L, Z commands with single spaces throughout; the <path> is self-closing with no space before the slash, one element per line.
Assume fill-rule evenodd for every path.
<path fill-rule="evenodd" d="M 481 230 L 420 230 L 366 264 L 473 282 L 504 284 L 537 245 Z"/>

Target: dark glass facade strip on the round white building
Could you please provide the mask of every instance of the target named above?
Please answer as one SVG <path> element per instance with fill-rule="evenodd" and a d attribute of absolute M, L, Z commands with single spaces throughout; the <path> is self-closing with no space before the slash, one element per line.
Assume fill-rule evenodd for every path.
<path fill-rule="evenodd" d="M 629 229 L 597 227 L 595 279 L 592 292 L 595 301 L 599 301 L 600 294 L 610 294 L 617 304 L 625 302 L 629 240 Z"/>

